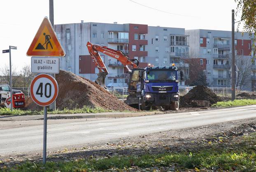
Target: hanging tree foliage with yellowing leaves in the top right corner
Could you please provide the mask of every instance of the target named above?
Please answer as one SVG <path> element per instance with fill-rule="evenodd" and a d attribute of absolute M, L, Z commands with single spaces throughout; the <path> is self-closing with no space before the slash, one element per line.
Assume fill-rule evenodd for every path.
<path fill-rule="evenodd" d="M 237 2 L 237 11 L 242 12 L 241 20 L 238 23 L 238 27 L 241 25 L 241 23 L 244 23 L 243 25 L 243 31 L 248 32 L 250 36 L 252 36 L 253 33 L 256 33 L 256 1 L 255 0 L 235 0 Z M 252 44 L 252 50 L 256 50 L 256 37 L 254 34 L 253 38 L 253 44 Z M 255 51 L 253 54 L 253 57 L 255 58 Z"/>

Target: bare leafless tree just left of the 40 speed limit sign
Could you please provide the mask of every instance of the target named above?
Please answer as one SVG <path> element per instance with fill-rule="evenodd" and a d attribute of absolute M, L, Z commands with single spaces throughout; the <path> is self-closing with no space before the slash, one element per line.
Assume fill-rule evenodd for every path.
<path fill-rule="evenodd" d="M 30 85 L 30 82 L 32 81 L 33 77 L 35 76 L 34 73 L 30 70 L 30 65 L 25 65 L 20 71 L 22 82 L 21 85 L 23 87 L 28 87 Z M 20 86 L 21 86 L 20 85 Z"/>

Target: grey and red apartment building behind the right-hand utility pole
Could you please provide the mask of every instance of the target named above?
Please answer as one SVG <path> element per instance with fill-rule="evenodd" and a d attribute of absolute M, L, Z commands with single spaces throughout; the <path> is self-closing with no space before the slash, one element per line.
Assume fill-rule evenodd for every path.
<path fill-rule="evenodd" d="M 191 57 L 206 59 L 205 73 L 209 86 L 231 87 L 231 32 L 195 29 L 185 30 L 185 33 L 189 35 Z M 235 32 L 235 59 L 236 75 L 241 78 L 242 75 L 245 76 L 243 72 L 246 69 L 243 68 L 248 65 L 251 66 L 251 37 L 249 34 Z M 246 63 L 248 65 L 245 65 Z M 254 68 L 251 67 L 251 70 L 254 70 Z M 251 91 L 252 78 L 253 76 L 246 77 L 244 90 Z"/>

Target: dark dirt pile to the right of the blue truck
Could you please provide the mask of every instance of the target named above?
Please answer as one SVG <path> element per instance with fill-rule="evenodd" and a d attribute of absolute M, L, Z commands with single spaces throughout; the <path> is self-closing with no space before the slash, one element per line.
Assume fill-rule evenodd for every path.
<path fill-rule="evenodd" d="M 195 86 L 189 93 L 180 97 L 179 104 L 181 107 L 200 107 L 196 102 L 192 102 L 193 100 L 209 101 L 210 105 L 222 101 L 221 97 L 206 86 Z"/>

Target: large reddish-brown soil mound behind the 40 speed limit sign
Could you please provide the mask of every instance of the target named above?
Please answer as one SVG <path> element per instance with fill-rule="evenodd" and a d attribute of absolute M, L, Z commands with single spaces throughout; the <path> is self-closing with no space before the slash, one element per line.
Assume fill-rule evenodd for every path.
<path fill-rule="evenodd" d="M 56 80 L 59 86 L 57 109 L 82 108 L 85 105 L 114 111 L 137 111 L 89 79 L 74 75 L 72 72 L 60 70 Z M 31 110 L 42 109 L 31 98 L 26 100 L 26 107 Z"/>

